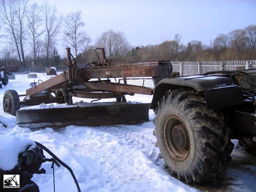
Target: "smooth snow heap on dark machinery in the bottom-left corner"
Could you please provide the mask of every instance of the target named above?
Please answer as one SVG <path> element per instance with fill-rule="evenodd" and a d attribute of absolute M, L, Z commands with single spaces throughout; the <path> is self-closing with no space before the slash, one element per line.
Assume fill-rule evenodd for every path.
<path fill-rule="evenodd" d="M 28 145 L 35 145 L 35 142 L 17 136 L 0 135 L 0 169 L 13 169 L 18 164 L 19 153 Z"/>

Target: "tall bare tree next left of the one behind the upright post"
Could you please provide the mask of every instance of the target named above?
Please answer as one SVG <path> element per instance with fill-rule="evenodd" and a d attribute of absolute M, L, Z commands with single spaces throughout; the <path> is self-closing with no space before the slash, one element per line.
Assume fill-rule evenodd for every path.
<path fill-rule="evenodd" d="M 50 45 L 53 44 L 56 35 L 60 32 L 62 14 L 58 13 L 56 5 L 51 6 L 47 1 L 42 5 L 42 12 L 46 32 L 46 59 L 48 65 Z"/>

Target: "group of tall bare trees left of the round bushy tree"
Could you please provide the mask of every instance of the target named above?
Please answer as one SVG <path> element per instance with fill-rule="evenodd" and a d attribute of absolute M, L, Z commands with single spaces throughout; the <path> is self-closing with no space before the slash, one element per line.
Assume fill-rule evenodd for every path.
<path fill-rule="evenodd" d="M 41 6 L 28 0 L 0 0 L 1 33 L 0 64 L 30 67 L 60 64 L 56 46 L 84 52 L 91 38 L 83 30 L 82 12 L 70 12 L 66 17 L 47 1 Z M 63 32 L 62 32 L 63 31 Z"/>

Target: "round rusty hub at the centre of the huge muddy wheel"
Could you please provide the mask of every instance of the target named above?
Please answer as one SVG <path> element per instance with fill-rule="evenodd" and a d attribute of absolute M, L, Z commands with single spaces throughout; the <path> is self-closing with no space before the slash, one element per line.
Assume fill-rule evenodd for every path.
<path fill-rule="evenodd" d="M 174 145 L 179 149 L 185 149 L 188 145 L 188 137 L 184 131 L 185 126 L 176 125 L 172 130 L 172 138 Z"/>

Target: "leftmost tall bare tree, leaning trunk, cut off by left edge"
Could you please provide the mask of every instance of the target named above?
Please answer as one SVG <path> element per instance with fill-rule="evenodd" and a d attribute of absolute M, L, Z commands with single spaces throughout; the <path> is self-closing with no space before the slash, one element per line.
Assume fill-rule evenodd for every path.
<path fill-rule="evenodd" d="M 1 0 L 0 2 L 0 13 L 1 13 L 1 20 L 4 22 L 4 24 L 7 26 L 6 32 L 11 34 L 13 39 L 13 43 L 16 47 L 18 57 L 20 60 L 20 65 L 22 65 L 21 57 L 20 57 L 20 50 L 18 45 L 18 40 L 16 36 L 16 23 L 15 23 L 15 1 L 14 0 Z"/>

